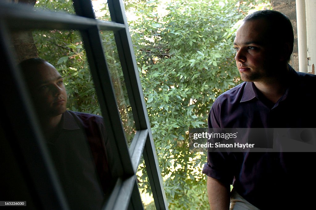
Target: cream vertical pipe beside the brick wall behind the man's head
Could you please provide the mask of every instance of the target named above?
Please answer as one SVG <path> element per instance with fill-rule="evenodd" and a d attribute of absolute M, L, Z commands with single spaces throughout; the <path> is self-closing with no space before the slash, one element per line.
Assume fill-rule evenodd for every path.
<path fill-rule="evenodd" d="M 296 0 L 296 20 L 299 70 L 308 73 L 305 0 Z"/>

